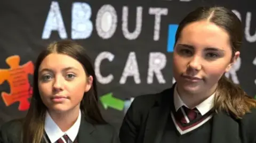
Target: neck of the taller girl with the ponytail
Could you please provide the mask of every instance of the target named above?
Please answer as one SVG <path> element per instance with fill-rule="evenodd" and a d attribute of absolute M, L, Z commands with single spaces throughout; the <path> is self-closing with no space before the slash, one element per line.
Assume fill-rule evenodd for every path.
<path fill-rule="evenodd" d="M 185 91 L 177 85 L 177 91 L 183 103 L 185 103 L 189 108 L 194 108 L 198 104 L 202 103 L 205 99 L 210 97 L 216 90 L 217 85 L 214 85 L 210 90 L 205 90 L 199 93 L 191 93 Z"/>

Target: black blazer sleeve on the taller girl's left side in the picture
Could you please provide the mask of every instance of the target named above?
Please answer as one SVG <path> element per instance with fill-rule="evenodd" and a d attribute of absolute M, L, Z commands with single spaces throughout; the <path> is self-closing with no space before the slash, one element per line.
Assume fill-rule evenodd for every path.
<path fill-rule="evenodd" d="M 138 137 L 140 127 L 140 111 L 138 97 L 136 97 L 127 110 L 121 128 L 119 130 L 119 139 L 121 143 L 135 143 Z"/>

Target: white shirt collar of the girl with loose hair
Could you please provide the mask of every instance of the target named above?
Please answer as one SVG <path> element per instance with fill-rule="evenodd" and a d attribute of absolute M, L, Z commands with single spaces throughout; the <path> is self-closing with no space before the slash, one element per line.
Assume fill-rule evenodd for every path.
<path fill-rule="evenodd" d="M 69 137 L 69 141 L 67 142 L 69 143 L 69 142 L 74 142 L 74 140 L 76 139 L 76 136 L 78 134 L 78 130 L 80 127 L 80 123 L 81 123 L 81 111 L 79 110 L 79 115 L 76 122 L 66 132 L 62 132 L 61 129 L 58 127 L 58 125 L 52 120 L 52 117 L 50 116 L 50 114 L 46 112 L 44 130 L 47 136 L 49 137 L 51 143 L 56 142 L 59 138 L 61 138 L 65 134 L 67 134 Z"/>

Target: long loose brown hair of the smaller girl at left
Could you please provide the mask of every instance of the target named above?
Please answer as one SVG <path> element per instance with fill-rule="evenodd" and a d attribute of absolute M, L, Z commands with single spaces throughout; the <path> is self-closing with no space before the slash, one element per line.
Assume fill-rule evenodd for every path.
<path fill-rule="evenodd" d="M 84 114 L 85 120 L 91 124 L 106 124 L 103 119 L 98 106 L 98 93 L 96 85 L 96 76 L 90 57 L 87 55 L 85 49 L 71 40 L 62 40 L 50 44 L 37 58 L 34 82 L 33 82 L 33 96 L 31 98 L 30 107 L 25 117 L 22 142 L 38 143 L 41 142 L 44 134 L 44 121 L 47 107 L 43 104 L 38 90 L 38 69 L 44 58 L 51 53 L 66 54 L 75 58 L 83 66 L 87 76 L 93 77 L 92 87 L 89 91 L 84 93 L 81 101 L 81 112 Z"/>

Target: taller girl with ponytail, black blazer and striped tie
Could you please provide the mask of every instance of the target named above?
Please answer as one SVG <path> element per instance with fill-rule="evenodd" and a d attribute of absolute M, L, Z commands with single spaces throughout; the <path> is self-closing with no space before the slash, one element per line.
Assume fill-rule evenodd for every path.
<path fill-rule="evenodd" d="M 255 143 L 256 102 L 225 73 L 238 60 L 241 21 L 225 7 L 199 7 L 178 27 L 172 88 L 138 96 L 122 143 Z"/>

